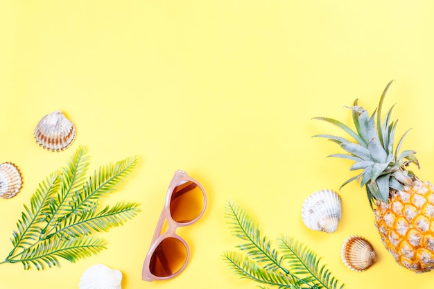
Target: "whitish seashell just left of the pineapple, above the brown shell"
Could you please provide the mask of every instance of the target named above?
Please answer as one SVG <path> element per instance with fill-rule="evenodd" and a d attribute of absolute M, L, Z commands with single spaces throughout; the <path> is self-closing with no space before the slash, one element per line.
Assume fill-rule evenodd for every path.
<path fill-rule="evenodd" d="M 309 195 L 302 205 L 304 225 L 315 231 L 336 231 L 341 213 L 340 196 L 335 191 L 327 189 Z"/>

